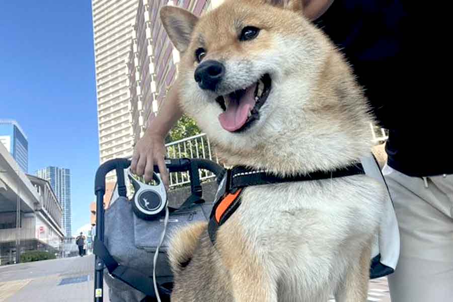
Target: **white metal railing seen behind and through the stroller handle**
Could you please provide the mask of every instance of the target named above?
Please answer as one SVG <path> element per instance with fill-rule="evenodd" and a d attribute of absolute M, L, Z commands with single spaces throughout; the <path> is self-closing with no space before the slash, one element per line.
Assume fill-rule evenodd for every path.
<path fill-rule="evenodd" d="M 165 145 L 169 158 L 193 158 L 205 159 L 218 163 L 217 156 L 213 153 L 209 138 L 205 133 L 173 141 Z M 215 175 L 206 170 L 199 170 L 200 180 L 214 178 Z M 190 183 L 188 172 L 171 173 L 170 187 L 176 187 Z"/>

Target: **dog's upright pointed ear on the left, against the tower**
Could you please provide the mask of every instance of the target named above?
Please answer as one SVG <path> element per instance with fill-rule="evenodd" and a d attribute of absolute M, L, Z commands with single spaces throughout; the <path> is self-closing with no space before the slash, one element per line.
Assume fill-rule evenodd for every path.
<path fill-rule="evenodd" d="M 185 52 L 198 22 L 198 17 L 189 11 L 174 6 L 164 6 L 160 15 L 162 24 L 173 45 L 179 52 Z"/>

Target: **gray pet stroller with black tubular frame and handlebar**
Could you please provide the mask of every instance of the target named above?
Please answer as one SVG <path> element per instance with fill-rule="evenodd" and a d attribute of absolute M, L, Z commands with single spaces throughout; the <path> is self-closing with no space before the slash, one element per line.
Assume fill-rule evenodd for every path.
<path fill-rule="evenodd" d="M 217 179 L 222 177 L 225 170 L 212 161 L 202 159 L 169 159 L 166 160 L 166 165 L 170 173 L 188 172 L 191 189 L 191 195 L 179 208 L 168 207 L 168 211 L 165 210 L 165 188 L 156 175 L 159 173 L 157 166 L 154 167 L 154 180 L 161 189 L 146 186 L 129 177 L 135 191 L 131 201 L 126 198 L 124 178 L 124 171 L 130 166 L 129 160 L 110 160 L 97 170 L 97 225 L 93 242 L 93 252 L 96 255 L 95 302 L 103 301 L 104 278 L 109 286 L 111 301 L 157 301 L 155 289 L 158 290 L 161 301 L 170 300 L 173 276 L 165 253 L 165 232 L 162 231 L 167 229 L 169 233 L 187 223 L 208 221 L 212 203 L 205 202 L 202 198 L 198 170 L 210 171 Z M 114 170 L 119 197 L 104 210 L 105 177 Z M 149 211 L 151 208 L 154 211 Z M 170 222 L 166 224 L 168 221 Z M 153 269 L 156 270 L 154 273 Z M 153 276 L 156 278 L 153 279 Z"/>

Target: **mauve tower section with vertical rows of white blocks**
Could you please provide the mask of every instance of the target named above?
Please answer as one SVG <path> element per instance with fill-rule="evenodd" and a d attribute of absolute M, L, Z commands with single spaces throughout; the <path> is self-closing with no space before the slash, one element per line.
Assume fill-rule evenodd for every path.
<path fill-rule="evenodd" d="M 143 135 L 149 116 L 158 111 L 177 74 L 179 52 L 173 47 L 159 16 L 159 10 L 165 5 L 179 6 L 199 16 L 210 9 L 211 1 L 139 1 L 126 59 L 134 141 Z"/>

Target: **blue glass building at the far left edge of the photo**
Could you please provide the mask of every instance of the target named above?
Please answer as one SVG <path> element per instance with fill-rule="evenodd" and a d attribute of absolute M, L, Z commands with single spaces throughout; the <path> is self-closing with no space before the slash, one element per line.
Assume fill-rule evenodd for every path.
<path fill-rule="evenodd" d="M 28 140 L 17 121 L 0 119 L 0 143 L 7 148 L 16 163 L 28 172 Z"/>

